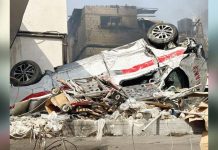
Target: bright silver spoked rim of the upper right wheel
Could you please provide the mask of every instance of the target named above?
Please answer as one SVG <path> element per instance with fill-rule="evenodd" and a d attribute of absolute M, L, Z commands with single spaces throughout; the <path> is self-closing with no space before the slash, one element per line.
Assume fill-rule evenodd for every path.
<path fill-rule="evenodd" d="M 151 34 L 157 39 L 168 39 L 173 35 L 173 28 L 169 25 L 158 25 Z"/>

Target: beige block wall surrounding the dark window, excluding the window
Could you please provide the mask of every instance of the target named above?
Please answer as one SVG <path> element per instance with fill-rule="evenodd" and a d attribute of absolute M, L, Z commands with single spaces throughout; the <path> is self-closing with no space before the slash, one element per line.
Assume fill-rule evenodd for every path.
<path fill-rule="evenodd" d="M 101 16 L 121 17 L 119 28 L 102 28 Z M 76 42 L 73 43 L 72 60 L 82 59 L 111 47 L 121 46 L 143 37 L 137 23 L 135 7 L 85 6 L 82 10 L 81 24 L 77 30 Z M 101 45 L 105 48 L 88 47 Z"/>

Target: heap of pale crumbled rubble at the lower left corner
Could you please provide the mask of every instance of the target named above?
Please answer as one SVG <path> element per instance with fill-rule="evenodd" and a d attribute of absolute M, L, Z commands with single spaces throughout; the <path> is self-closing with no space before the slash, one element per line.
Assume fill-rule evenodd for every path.
<path fill-rule="evenodd" d="M 46 137 L 60 135 L 67 115 L 57 115 L 55 112 L 42 114 L 41 117 L 32 116 L 11 116 L 10 117 L 10 136 L 12 138 L 36 138 L 42 134 Z"/>

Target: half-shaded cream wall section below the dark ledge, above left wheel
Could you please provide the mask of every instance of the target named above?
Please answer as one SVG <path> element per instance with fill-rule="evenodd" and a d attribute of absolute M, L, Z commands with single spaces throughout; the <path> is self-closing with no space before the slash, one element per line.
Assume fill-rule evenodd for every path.
<path fill-rule="evenodd" d="M 17 37 L 11 54 L 11 67 L 22 60 L 33 60 L 44 72 L 54 71 L 54 67 L 63 64 L 62 41 L 59 39 Z"/>

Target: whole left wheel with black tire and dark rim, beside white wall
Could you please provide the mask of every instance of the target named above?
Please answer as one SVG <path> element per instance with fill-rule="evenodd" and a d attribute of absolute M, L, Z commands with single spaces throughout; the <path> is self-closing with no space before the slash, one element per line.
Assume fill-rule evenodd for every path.
<path fill-rule="evenodd" d="M 21 61 L 13 66 L 10 72 L 11 84 L 27 86 L 38 82 L 42 72 L 37 63 L 31 60 Z"/>

